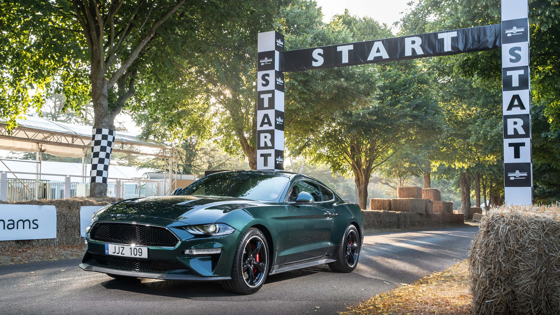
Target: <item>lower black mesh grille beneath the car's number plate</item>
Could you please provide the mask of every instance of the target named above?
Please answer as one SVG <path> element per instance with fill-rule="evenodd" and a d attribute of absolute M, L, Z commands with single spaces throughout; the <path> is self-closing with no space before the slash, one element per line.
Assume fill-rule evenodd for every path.
<path fill-rule="evenodd" d="M 166 272 L 177 269 L 185 269 L 185 265 L 180 262 L 172 261 L 149 261 L 134 260 L 120 257 L 109 257 L 102 255 L 91 255 L 92 260 L 102 266 L 116 269 L 147 271 L 147 272 Z"/>

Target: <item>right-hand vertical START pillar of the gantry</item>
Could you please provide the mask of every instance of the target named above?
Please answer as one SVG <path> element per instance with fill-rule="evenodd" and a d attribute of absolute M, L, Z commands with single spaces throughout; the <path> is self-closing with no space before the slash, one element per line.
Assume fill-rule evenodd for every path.
<path fill-rule="evenodd" d="M 533 203 L 528 0 L 502 0 L 503 173 L 506 205 Z"/>

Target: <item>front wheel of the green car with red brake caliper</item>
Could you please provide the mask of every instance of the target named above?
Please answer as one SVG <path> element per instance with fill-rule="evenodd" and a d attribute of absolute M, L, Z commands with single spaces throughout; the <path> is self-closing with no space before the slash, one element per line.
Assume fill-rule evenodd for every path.
<path fill-rule="evenodd" d="M 243 234 L 235 251 L 231 267 L 231 280 L 222 281 L 226 291 L 237 294 L 253 294 L 267 279 L 270 268 L 267 239 L 255 228 Z"/>

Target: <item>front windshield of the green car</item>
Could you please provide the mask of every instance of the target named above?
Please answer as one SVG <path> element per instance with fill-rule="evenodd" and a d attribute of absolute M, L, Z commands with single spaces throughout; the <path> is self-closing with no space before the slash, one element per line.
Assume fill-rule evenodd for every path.
<path fill-rule="evenodd" d="M 277 201 L 289 180 L 276 174 L 218 173 L 197 180 L 179 194 Z"/>

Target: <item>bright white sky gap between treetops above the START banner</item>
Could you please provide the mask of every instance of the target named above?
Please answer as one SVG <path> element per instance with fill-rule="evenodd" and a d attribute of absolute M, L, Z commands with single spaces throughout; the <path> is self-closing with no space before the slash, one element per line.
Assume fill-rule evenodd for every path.
<path fill-rule="evenodd" d="M 369 16 L 374 20 L 387 24 L 396 33 L 398 29 L 393 23 L 403 17 L 407 3 L 412 0 L 315 0 L 323 8 L 323 20 L 328 22 L 335 14 L 344 13 L 344 9 L 352 15 Z"/>

